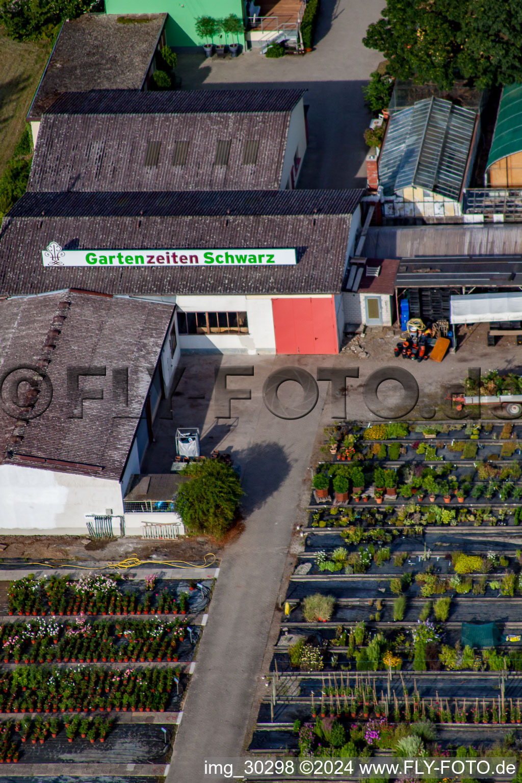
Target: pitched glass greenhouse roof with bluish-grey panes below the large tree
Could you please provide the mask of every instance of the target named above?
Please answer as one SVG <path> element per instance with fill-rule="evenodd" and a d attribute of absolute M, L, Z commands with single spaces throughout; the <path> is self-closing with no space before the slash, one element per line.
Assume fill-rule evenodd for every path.
<path fill-rule="evenodd" d="M 421 100 L 390 118 L 379 160 L 384 195 L 416 186 L 458 200 L 477 114 L 448 100 Z"/>

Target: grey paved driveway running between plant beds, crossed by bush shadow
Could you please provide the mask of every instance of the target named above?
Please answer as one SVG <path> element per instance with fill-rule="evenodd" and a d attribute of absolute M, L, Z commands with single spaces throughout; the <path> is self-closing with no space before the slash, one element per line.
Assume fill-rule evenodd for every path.
<path fill-rule="evenodd" d="M 256 366 L 248 379 L 251 402 L 232 403 L 239 424 L 226 441 L 243 471 L 245 530 L 221 561 L 167 783 L 200 783 L 205 758 L 242 753 L 296 508 L 308 483 L 322 398 L 303 419 L 275 418 L 261 401 L 261 386 L 287 357 L 257 359 L 265 371 L 257 375 Z M 314 357 L 293 362 L 315 366 Z"/>

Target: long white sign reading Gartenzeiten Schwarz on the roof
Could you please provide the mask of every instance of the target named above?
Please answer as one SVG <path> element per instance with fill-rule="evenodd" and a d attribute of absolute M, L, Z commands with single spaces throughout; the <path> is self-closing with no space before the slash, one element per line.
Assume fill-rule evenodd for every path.
<path fill-rule="evenodd" d="M 289 265 L 296 263 L 296 251 L 287 247 L 241 247 L 221 250 L 62 250 L 51 242 L 41 251 L 44 266 L 234 266 Z"/>

